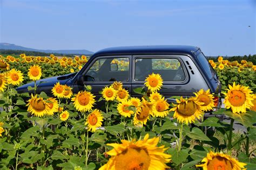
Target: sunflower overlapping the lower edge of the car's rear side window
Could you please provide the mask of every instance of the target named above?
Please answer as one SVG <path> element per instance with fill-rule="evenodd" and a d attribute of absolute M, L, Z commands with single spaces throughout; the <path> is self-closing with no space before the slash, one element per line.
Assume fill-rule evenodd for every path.
<path fill-rule="evenodd" d="M 151 92 L 156 92 L 161 89 L 163 85 L 163 79 L 160 74 L 150 74 L 149 77 L 145 79 L 145 85 Z"/>

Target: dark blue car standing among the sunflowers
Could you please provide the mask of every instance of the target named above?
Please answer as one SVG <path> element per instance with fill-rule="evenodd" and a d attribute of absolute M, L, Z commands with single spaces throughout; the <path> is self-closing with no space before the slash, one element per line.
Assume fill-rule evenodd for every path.
<path fill-rule="evenodd" d="M 131 96 L 138 96 L 133 90 L 145 83 L 151 73 L 163 78 L 159 91 L 169 98 L 172 96 L 194 96 L 200 89 L 220 94 L 221 85 L 217 74 L 208 63 L 199 47 L 184 45 L 111 47 L 100 50 L 90 57 L 78 73 L 46 78 L 37 87 L 52 96 L 51 89 L 59 81 L 73 88 L 73 93 L 92 86 L 92 93 L 100 97 L 99 91 L 113 81 L 121 81 Z M 25 84 L 17 88 L 19 93 L 28 92 Z M 218 98 L 216 98 L 218 99 Z M 171 101 L 171 99 L 169 100 Z M 220 100 L 215 100 L 220 104 Z"/>

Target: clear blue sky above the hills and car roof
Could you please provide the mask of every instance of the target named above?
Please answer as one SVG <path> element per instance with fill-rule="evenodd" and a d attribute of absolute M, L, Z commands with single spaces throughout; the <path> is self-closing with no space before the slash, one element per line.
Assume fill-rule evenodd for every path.
<path fill-rule="evenodd" d="M 35 49 L 194 45 L 256 54 L 256 1 L 0 0 L 0 42 Z M 250 27 L 249 27 L 250 25 Z"/>

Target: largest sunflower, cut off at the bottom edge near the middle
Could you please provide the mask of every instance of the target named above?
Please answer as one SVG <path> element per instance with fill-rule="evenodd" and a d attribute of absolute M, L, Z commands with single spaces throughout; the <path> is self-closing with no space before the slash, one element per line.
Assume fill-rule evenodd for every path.
<path fill-rule="evenodd" d="M 113 149 L 106 154 L 109 161 L 99 170 L 129 170 L 129 169 L 165 169 L 171 161 L 171 155 L 165 154 L 167 148 L 157 147 L 159 137 L 149 139 L 146 134 L 143 140 L 121 140 L 122 144 L 107 144 Z"/>

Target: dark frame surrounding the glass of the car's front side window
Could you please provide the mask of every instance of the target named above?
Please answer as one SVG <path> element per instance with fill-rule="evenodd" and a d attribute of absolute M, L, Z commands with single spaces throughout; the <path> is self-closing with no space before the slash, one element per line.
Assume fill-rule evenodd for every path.
<path fill-rule="evenodd" d="M 90 70 L 91 66 L 99 59 L 102 58 L 128 58 L 129 59 L 129 75 L 128 75 L 128 80 L 127 81 L 120 81 L 122 83 L 130 83 L 131 82 L 131 60 L 132 60 L 132 55 L 111 55 L 111 56 L 97 56 L 93 58 L 93 60 L 90 62 L 89 65 L 86 66 L 86 69 L 81 73 L 83 76 Z M 97 84 L 106 84 L 106 83 L 111 83 L 114 81 L 86 81 L 88 83 L 97 83 Z"/>

